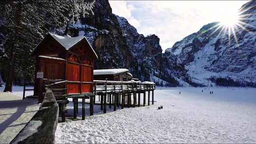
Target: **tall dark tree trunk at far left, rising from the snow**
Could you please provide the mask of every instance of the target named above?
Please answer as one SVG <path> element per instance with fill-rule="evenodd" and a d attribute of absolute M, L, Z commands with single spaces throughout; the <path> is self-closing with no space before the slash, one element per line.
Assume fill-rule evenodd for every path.
<path fill-rule="evenodd" d="M 19 2 L 17 5 L 16 16 L 15 16 L 15 29 L 14 29 L 14 39 L 13 45 L 10 50 L 10 64 L 8 66 L 8 78 L 6 81 L 4 92 L 10 91 L 12 92 L 13 85 L 13 77 L 14 77 L 14 63 L 15 63 L 15 55 L 16 55 L 16 43 L 18 39 L 18 27 L 20 25 L 20 17 L 21 17 L 21 3 Z"/>

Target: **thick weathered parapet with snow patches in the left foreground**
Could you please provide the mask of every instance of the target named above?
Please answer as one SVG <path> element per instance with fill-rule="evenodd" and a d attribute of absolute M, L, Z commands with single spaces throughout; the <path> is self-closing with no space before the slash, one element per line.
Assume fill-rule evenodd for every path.
<path fill-rule="evenodd" d="M 35 114 L 10 144 L 52 144 L 58 124 L 59 107 L 51 90 Z"/>

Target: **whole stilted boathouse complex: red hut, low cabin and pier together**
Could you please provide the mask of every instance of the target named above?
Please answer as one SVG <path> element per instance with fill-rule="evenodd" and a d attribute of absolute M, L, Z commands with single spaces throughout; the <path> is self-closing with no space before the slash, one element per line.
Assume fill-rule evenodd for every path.
<path fill-rule="evenodd" d="M 78 99 L 82 99 L 82 119 L 85 117 L 85 99 L 90 99 L 90 115 L 93 105 L 101 105 L 106 113 L 106 105 L 115 111 L 117 107 L 154 104 L 155 83 L 134 81 L 127 69 L 93 71 L 97 54 L 84 36 L 58 36 L 47 34 L 32 52 L 35 56 L 34 95 L 42 102 L 47 89 L 50 89 L 59 103 L 62 120 L 65 121 L 65 109 L 68 98 L 73 99 L 73 118 L 77 117 Z M 96 79 L 96 80 L 95 80 Z M 25 88 L 24 86 L 24 96 Z M 96 100 L 98 96 L 98 100 Z"/>

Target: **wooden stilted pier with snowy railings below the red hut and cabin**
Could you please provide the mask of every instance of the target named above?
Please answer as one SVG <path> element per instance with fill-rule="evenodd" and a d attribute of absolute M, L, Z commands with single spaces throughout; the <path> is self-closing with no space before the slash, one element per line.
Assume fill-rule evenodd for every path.
<path fill-rule="evenodd" d="M 46 85 L 46 89 L 52 91 L 61 90 L 53 88 L 57 84 L 63 84 L 68 81 L 59 81 Z M 65 89 L 62 89 L 65 90 Z M 103 113 L 107 112 L 107 106 L 113 107 L 113 111 L 116 111 L 117 107 L 130 108 L 150 105 L 150 97 L 152 105 L 154 104 L 154 90 L 155 83 L 153 82 L 140 82 L 140 81 L 93 81 L 92 93 L 78 93 L 78 94 L 64 94 L 61 97 L 58 96 L 57 102 L 60 106 L 60 114 L 62 115 L 62 121 L 65 121 L 65 104 L 67 98 L 73 99 L 73 118 L 77 118 L 78 113 L 78 99 L 82 99 L 82 119 L 85 119 L 85 99 L 90 99 L 90 116 L 93 115 L 93 105 L 101 105 Z M 146 103 L 147 93 L 147 103 Z M 150 94 L 151 93 L 151 94 Z M 143 95 L 143 97 L 141 97 Z M 62 98 L 62 99 L 60 99 Z M 63 99 L 64 98 L 64 99 Z M 98 98 L 98 100 L 96 100 Z M 140 105 L 141 100 L 143 104 Z"/>

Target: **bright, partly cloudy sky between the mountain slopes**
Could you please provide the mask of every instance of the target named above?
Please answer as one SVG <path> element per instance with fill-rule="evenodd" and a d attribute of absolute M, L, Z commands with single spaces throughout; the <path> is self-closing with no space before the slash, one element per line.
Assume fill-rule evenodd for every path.
<path fill-rule="evenodd" d="M 236 15 L 248 0 L 110 0 L 112 12 L 128 19 L 139 34 L 155 34 L 163 52 L 211 22 Z"/>

